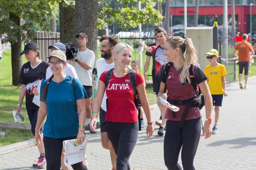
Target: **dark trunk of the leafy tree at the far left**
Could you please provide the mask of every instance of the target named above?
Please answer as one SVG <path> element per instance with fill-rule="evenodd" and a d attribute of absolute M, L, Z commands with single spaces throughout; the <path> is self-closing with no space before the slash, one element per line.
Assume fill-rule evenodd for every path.
<path fill-rule="evenodd" d="M 20 18 L 14 14 L 9 13 L 10 20 L 17 25 L 20 26 Z M 17 37 L 18 41 L 11 44 L 11 69 L 12 69 L 12 85 L 19 85 L 19 75 L 22 67 L 22 57 L 21 53 L 21 35 Z"/>

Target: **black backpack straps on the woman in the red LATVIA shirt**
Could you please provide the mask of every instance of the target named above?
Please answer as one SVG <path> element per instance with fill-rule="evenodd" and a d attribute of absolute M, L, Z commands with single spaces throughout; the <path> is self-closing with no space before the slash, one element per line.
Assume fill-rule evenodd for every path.
<path fill-rule="evenodd" d="M 106 73 L 106 87 L 108 87 L 108 83 L 109 83 L 111 74 L 112 74 L 114 69 L 115 68 L 112 68 L 112 69 L 108 70 L 107 73 Z M 130 79 L 130 83 L 131 83 L 132 89 L 134 91 L 134 97 L 135 97 L 134 103 L 135 103 L 135 106 L 136 106 L 136 108 L 138 110 L 139 130 L 141 130 L 140 109 L 139 109 L 139 95 L 138 95 L 138 92 L 136 90 L 136 74 L 135 74 L 135 71 L 132 70 L 132 69 L 129 69 L 129 79 Z M 106 103 L 107 103 L 107 108 L 108 108 L 108 98 L 106 99 Z"/>

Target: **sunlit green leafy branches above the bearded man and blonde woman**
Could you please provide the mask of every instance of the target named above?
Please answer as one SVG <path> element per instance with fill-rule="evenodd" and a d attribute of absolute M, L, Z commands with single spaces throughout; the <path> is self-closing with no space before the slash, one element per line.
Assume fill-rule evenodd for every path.
<path fill-rule="evenodd" d="M 135 28 L 140 23 L 157 26 L 163 16 L 154 7 L 154 0 L 140 0 L 141 9 L 137 7 L 139 0 L 115 0 L 121 7 L 111 7 L 104 0 L 99 0 L 98 29 L 115 23 L 119 28 L 128 30 Z M 129 7 L 130 3 L 136 6 Z"/>

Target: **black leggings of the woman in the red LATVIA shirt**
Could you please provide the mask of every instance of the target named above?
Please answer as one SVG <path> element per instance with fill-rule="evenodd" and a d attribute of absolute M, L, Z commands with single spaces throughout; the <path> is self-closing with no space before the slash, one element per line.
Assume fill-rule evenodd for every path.
<path fill-rule="evenodd" d="M 130 170 L 129 159 L 139 133 L 139 123 L 107 122 L 108 138 L 117 155 L 118 170 Z"/>

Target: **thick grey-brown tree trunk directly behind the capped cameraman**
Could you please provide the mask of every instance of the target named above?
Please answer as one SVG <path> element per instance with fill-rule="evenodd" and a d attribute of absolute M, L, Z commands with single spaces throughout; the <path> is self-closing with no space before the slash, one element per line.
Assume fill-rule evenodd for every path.
<path fill-rule="evenodd" d="M 98 34 L 98 0 L 76 0 L 74 19 L 74 35 L 86 33 L 89 41 L 86 47 L 97 55 Z M 73 36 L 73 41 L 76 41 Z M 96 61 L 96 58 L 95 58 Z"/>

